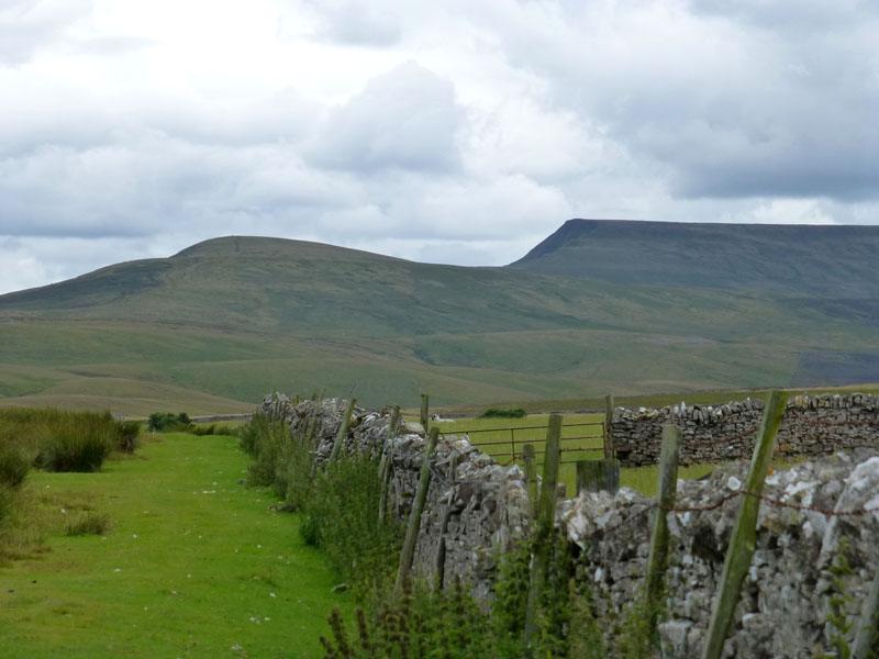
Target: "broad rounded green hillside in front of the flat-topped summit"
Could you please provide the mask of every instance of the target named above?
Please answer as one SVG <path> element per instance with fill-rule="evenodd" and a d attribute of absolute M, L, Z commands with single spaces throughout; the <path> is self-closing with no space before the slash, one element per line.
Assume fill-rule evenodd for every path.
<path fill-rule="evenodd" d="M 554 239 L 523 261 L 580 241 Z M 109 266 L 0 295 L 0 405 L 210 413 L 270 389 L 411 405 L 422 391 L 454 404 L 879 380 L 876 315 L 842 298 L 521 264 L 233 236 Z"/>

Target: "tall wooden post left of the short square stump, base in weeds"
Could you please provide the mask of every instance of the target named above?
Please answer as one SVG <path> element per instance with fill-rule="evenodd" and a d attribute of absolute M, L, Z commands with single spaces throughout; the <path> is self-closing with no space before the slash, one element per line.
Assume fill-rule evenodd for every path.
<path fill-rule="evenodd" d="M 537 528 L 534 532 L 534 556 L 531 560 L 531 583 L 525 608 L 525 647 L 532 654 L 532 643 L 537 634 L 537 608 L 546 588 L 546 572 L 553 545 L 553 528 L 556 521 L 556 482 L 560 457 L 561 415 L 550 414 L 546 429 L 546 449 L 543 456 L 543 483 L 537 505 Z"/>

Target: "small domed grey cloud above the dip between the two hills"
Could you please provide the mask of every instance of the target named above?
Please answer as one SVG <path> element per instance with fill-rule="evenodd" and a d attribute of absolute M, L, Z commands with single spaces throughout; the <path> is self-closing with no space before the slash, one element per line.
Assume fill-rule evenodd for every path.
<path fill-rule="evenodd" d="M 332 110 L 308 153 L 318 165 L 366 175 L 450 171 L 461 119 L 452 82 L 409 62 Z"/>

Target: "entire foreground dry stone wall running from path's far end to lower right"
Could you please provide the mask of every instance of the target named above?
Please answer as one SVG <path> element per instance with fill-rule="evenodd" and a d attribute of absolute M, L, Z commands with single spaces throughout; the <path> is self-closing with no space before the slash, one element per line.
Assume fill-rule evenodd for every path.
<path fill-rule="evenodd" d="M 875 400 L 866 402 L 859 406 L 869 412 L 872 404 L 875 411 Z M 316 420 L 318 458 L 325 460 L 346 406 L 336 400 L 294 405 L 276 394 L 265 400 L 262 411 L 298 431 Z M 745 409 L 747 418 L 758 423 L 761 405 L 755 401 Z M 842 403 L 826 410 L 823 418 L 852 417 Z M 390 410 L 356 409 L 343 446 L 348 454 L 388 451 L 393 467 L 390 499 L 403 520 L 411 510 L 426 443 L 418 424 L 402 424 L 389 439 L 390 418 Z M 795 440 L 792 428 L 795 425 L 782 440 Z M 860 440 L 855 437 L 853 444 Z M 468 580 L 477 596 L 487 601 L 500 554 L 530 529 L 522 472 L 497 465 L 466 438 L 454 437 L 441 440 L 431 465 L 436 476 L 422 516 L 415 569 L 430 576 L 435 567 L 450 494 L 445 573 Z M 746 471 L 747 463 L 739 461 L 704 480 L 679 480 L 676 510 L 664 513 L 671 532 L 666 611 L 659 626 L 664 657 L 701 656 L 712 597 L 745 495 Z M 754 561 L 724 657 L 812 659 L 831 648 L 831 635 L 838 632 L 828 622 L 831 599 L 844 594 L 843 614 L 856 622 L 879 569 L 879 451 L 855 448 L 775 471 L 764 493 L 772 503 L 760 506 Z M 643 588 L 655 514 L 652 499 L 626 488 L 613 496 L 583 492 L 558 503 L 557 525 L 576 547 L 579 573 L 588 580 L 609 643 L 616 622 Z M 832 566 L 839 557 L 845 557 L 850 571 L 834 584 Z M 856 627 L 846 633 L 848 643 Z"/>

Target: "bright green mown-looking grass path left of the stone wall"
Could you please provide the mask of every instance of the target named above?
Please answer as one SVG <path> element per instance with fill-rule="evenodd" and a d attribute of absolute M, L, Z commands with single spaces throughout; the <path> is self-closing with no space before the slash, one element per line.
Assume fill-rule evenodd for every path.
<path fill-rule="evenodd" d="M 0 657 L 321 657 L 333 574 L 298 516 L 237 484 L 231 437 L 165 435 L 101 473 L 34 473 L 51 514 L 107 512 L 104 536 L 51 537 L 0 568 Z M 62 512 L 60 509 L 67 512 Z M 348 617 L 348 615 L 346 615 Z"/>

